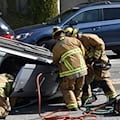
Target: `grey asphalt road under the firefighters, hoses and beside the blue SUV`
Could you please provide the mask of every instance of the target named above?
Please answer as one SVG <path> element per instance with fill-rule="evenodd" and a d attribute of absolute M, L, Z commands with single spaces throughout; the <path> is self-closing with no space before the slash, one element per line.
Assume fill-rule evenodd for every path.
<path fill-rule="evenodd" d="M 114 57 L 115 56 L 113 56 L 113 58 Z M 120 58 L 111 59 L 110 61 L 112 63 L 111 80 L 113 81 L 113 85 L 117 90 L 117 94 L 120 94 Z M 87 107 L 83 106 L 78 111 L 66 111 L 65 104 L 62 97 L 60 96 L 61 93 L 58 93 L 56 94 L 56 97 L 54 99 L 48 101 L 42 100 L 40 115 L 46 116 L 47 114 L 51 113 L 50 116 L 63 117 L 67 115 L 70 117 L 81 117 L 86 114 L 86 110 L 88 110 L 88 108 L 90 108 L 90 111 L 95 110 L 96 107 L 107 101 L 104 93 L 100 91 L 96 92 L 97 100 L 93 102 L 93 104 L 90 104 Z M 120 114 L 116 115 L 115 113 L 113 113 L 113 109 L 111 106 L 106 107 L 106 109 L 98 109 L 97 111 L 93 112 L 93 115 L 94 117 L 86 117 L 84 119 L 79 118 L 75 120 L 120 120 Z M 38 114 L 38 103 L 33 102 L 33 104 L 31 104 L 30 106 L 12 110 L 5 120 L 42 120 L 42 118 Z M 54 119 L 52 118 L 50 120 Z"/>

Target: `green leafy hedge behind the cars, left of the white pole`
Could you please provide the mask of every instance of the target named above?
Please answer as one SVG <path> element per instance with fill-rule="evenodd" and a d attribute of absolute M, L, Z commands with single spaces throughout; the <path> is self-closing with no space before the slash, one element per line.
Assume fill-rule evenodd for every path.
<path fill-rule="evenodd" d="M 8 14 L 2 18 L 13 28 L 19 28 L 31 24 L 43 23 L 58 14 L 57 0 L 28 0 L 28 13 L 18 13 L 15 0 L 8 2 Z"/>

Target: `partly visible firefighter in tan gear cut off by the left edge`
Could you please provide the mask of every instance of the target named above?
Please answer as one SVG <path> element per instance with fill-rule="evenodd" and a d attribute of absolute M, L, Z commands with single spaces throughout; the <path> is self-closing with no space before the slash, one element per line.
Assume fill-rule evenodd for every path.
<path fill-rule="evenodd" d="M 9 95 L 12 91 L 12 83 L 13 76 L 0 74 L 0 118 L 5 118 L 11 110 Z"/>

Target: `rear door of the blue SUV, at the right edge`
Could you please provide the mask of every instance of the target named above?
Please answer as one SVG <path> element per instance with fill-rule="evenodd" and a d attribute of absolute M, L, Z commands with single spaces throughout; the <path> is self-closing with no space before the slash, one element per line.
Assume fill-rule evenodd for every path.
<path fill-rule="evenodd" d="M 120 8 L 103 8 L 101 31 L 107 47 L 120 45 Z"/>

